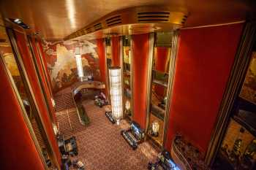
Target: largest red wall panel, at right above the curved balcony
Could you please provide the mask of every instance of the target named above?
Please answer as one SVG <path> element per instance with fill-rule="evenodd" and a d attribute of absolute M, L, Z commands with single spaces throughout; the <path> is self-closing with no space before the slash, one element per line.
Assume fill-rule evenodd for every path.
<path fill-rule="evenodd" d="M 206 152 L 243 24 L 181 30 L 165 147 L 181 133 Z"/>

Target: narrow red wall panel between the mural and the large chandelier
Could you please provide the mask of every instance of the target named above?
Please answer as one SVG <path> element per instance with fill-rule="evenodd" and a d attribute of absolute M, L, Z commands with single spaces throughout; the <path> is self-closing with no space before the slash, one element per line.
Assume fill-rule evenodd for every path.
<path fill-rule="evenodd" d="M 105 83 L 105 95 L 108 96 L 107 63 L 105 58 L 104 39 L 97 39 L 97 53 L 99 55 L 99 72 L 101 81 Z M 109 98 L 109 97 L 108 97 Z"/>

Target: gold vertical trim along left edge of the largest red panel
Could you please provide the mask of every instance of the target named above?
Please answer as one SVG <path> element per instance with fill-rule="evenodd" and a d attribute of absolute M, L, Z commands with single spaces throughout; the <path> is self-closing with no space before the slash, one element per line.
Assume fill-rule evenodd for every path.
<path fill-rule="evenodd" d="M 169 66 L 167 102 L 166 102 L 166 109 L 165 109 L 164 136 L 163 136 L 162 150 L 165 149 L 165 144 L 167 139 L 167 131 L 168 131 L 168 124 L 169 124 L 169 116 L 170 116 L 170 101 L 173 96 L 173 80 L 174 80 L 174 74 L 175 74 L 175 68 L 176 68 L 177 51 L 178 51 L 178 31 L 173 31 L 172 47 L 171 47 L 171 53 L 170 53 L 170 66 Z"/>

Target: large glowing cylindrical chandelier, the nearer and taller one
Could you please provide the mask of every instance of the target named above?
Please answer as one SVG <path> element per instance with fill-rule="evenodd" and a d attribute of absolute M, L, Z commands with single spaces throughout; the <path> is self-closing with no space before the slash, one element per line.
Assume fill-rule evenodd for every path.
<path fill-rule="evenodd" d="M 110 67 L 109 81 L 110 81 L 110 100 L 112 108 L 112 117 L 119 124 L 123 117 L 123 101 L 121 90 L 121 68 L 118 66 Z"/>

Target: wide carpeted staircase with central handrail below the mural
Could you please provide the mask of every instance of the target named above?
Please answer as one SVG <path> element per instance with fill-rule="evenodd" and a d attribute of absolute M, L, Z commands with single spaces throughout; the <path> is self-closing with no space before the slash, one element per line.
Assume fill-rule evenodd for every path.
<path fill-rule="evenodd" d="M 86 127 L 80 123 L 78 110 L 75 107 L 72 93 L 63 93 L 55 96 L 55 102 L 59 131 L 65 138 L 86 129 Z"/>

